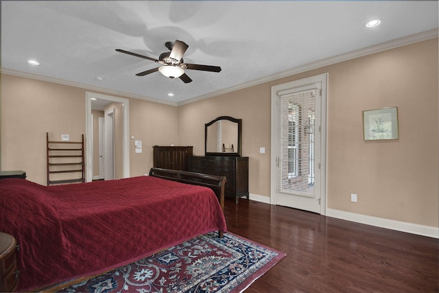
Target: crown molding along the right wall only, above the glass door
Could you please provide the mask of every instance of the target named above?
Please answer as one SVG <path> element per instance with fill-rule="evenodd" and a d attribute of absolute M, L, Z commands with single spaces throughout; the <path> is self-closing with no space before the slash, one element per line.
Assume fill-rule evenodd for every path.
<path fill-rule="evenodd" d="M 228 89 L 224 89 L 221 91 L 215 91 L 215 92 L 209 93 L 207 95 L 200 95 L 198 97 L 193 97 L 192 99 L 187 99 L 185 101 L 179 102 L 177 105 L 182 106 L 185 104 L 191 104 L 194 102 L 201 101 L 202 99 L 209 99 L 210 97 L 215 97 L 217 95 L 224 95 L 225 93 L 230 93 L 232 91 L 237 91 L 239 89 L 245 89 L 245 88 L 248 88 L 250 86 L 255 86 L 257 84 L 263 84 L 265 82 L 271 82 L 273 80 L 278 80 L 280 78 L 286 78 L 287 76 L 295 75 L 298 73 L 303 73 L 303 72 L 310 71 L 313 69 L 318 69 L 320 67 L 325 67 L 328 65 L 333 65 L 333 64 L 340 63 L 340 62 L 343 62 L 346 60 L 351 60 L 351 59 L 359 58 L 362 56 L 375 54 L 375 53 L 378 53 L 381 51 L 394 49 L 397 47 L 402 47 L 402 46 L 410 45 L 413 43 L 422 42 L 423 40 L 429 40 L 431 38 L 438 38 L 438 33 L 439 33 L 439 30 L 438 30 L 438 28 L 436 28 L 433 30 L 420 32 L 418 34 L 412 34 L 410 36 L 405 36 L 403 38 L 396 38 L 394 40 L 390 40 L 390 41 L 385 42 L 385 43 L 380 43 L 378 45 L 372 45 L 370 47 L 365 47 L 362 49 L 348 52 L 346 54 L 340 54 L 337 56 L 318 60 L 316 62 L 311 62 L 311 63 L 308 63 L 307 65 L 303 65 L 301 67 L 296 67 L 294 69 L 289 69 L 287 71 L 276 73 L 274 75 L 269 75 L 265 78 L 260 78 L 258 80 L 252 80 L 251 82 L 239 84 L 237 86 L 233 86 L 233 87 L 230 87 Z"/>

